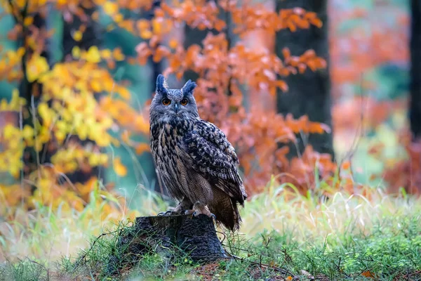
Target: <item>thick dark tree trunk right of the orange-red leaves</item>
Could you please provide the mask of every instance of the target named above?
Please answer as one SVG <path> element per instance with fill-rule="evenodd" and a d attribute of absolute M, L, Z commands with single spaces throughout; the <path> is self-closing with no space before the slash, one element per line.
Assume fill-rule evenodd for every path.
<path fill-rule="evenodd" d="M 329 65 L 328 48 L 328 15 L 327 0 L 277 0 L 276 11 L 283 8 L 304 8 L 317 13 L 323 22 L 323 27 L 311 26 L 308 30 L 298 29 L 296 32 L 282 30 L 276 34 L 276 54 L 283 58 L 282 49 L 288 47 L 291 55 L 302 55 L 305 51 L 313 49 L 316 54 L 324 58 Z M 330 76 L 329 67 L 325 70 L 306 70 L 304 74 L 286 77 L 289 91 L 277 94 L 276 107 L 279 113 L 291 113 L 298 118 L 307 115 L 313 122 L 323 122 L 331 126 L 330 115 Z M 301 138 L 298 136 L 298 148 L 302 152 L 305 145 L 312 145 L 314 150 L 333 155 L 332 133 L 312 134 Z M 296 156 L 295 145 L 291 145 L 290 157 Z"/>

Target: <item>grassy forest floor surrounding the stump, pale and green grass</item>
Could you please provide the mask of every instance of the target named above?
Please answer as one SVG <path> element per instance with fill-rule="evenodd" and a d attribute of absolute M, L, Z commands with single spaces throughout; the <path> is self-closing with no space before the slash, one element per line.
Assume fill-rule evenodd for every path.
<path fill-rule="evenodd" d="M 39 209 L 26 226 L 3 223 L 0 280 L 421 280 L 421 200 L 376 189 L 326 202 L 290 197 L 269 186 L 246 202 L 240 233 L 223 241 L 235 259 L 201 266 L 152 253 L 114 275 L 107 264 L 122 223 Z M 147 215 L 166 209 L 150 206 Z"/>

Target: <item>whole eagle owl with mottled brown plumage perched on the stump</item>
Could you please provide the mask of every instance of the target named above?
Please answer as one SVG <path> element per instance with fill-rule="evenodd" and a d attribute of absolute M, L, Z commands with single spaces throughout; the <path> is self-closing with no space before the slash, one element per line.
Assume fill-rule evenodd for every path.
<path fill-rule="evenodd" d="M 244 206 L 247 198 L 236 167 L 239 159 L 225 134 L 199 117 L 195 87 L 189 80 L 182 89 L 168 89 L 162 74 L 156 78 L 150 107 L 156 169 L 169 195 L 179 201 L 176 214 L 206 214 L 237 230 L 237 204 Z"/>

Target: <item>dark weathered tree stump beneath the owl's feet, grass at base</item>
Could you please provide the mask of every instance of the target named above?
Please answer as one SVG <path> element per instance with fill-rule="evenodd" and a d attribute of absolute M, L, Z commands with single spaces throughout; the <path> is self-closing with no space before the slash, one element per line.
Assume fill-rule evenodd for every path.
<path fill-rule="evenodd" d="M 118 256 L 110 256 L 109 273 L 119 270 L 116 264 L 136 263 L 143 255 L 153 252 L 165 259 L 187 255 L 192 261 L 201 263 L 227 257 L 216 235 L 213 219 L 203 214 L 196 217 L 140 216 L 134 226 L 119 235 L 117 249 L 120 251 Z M 122 257 L 124 261 L 121 261 Z"/>

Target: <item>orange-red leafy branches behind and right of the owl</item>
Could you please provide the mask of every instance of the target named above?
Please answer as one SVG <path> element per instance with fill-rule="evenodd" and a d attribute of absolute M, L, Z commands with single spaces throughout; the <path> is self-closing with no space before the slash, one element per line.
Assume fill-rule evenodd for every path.
<path fill-rule="evenodd" d="M 250 30 L 261 29 L 274 34 L 281 29 L 309 28 L 317 24 L 315 13 L 308 13 L 302 8 L 287 9 L 279 14 L 269 11 L 261 5 L 236 6 L 227 1 L 222 3 L 225 11 L 232 14 L 234 32 L 246 34 Z M 191 27 L 222 30 L 225 22 L 216 15 L 218 8 L 213 1 L 207 4 L 193 4 L 184 1 L 175 8 L 166 4 L 155 17 L 161 21 L 170 20 L 168 25 L 185 22 Z M 146 22 L 138 22 L 140 30 L 150 30 Z M 267 36 L 267 35 L 265 35 Z M 314 165 L 321 162 L 321 174 L 328 175 L 335 164 L 326 155 L 319 155 L 308 148 L 305 159 L 288 161 L 288 148 L 278 148 L 279 143 L 295 141 L 295 133 L 326 133 L 330 128 L 325 124 L 311 122 L 307 117 L 293 119 L 291 115 L 283 117 L 272 110 L 276 102 L 276 92 L 288 91 L 286 81 L 280 79 L 290 74 L 319 70 L 326 67 L 326 61 L 317 57 L 314 50 L 300 56 L 291 55 L 288 48 L 282 51 L 283 58 L 277 57 L 269 48 L 249 48 L 246 41 L 239 41 L 229 46 L 225 33 L 209 33 L 203 39 L 203 48 L 192 45 L 183 48 L 175 39 L 169 42 L 170 48 L 158 44 L 161 36 L 152 31 L 149 43 L 138 45 L 138 60 L 146 63 L 152 55 L 154 61 L 166 58 L 168 68 L 164 75 L 175 74 L 181 78 L 185 71 L 199 74 L 195 90 L 199 113 L 203 119 L 215 123 L 225 131 L 229 140 L 236 147 L 246 177 L 248 192 L 253 194 L 264 186 L 271 174 L 292 173 L 300 178 L 297 183 L 307 190 L 312 185 L 308 178 L 314 174 Z M 247 100 L 239 85 L 246 85 Z M 246 110 L 243 103 L 250 103 Z M 290 181 L 290 178 L 288 179 Z"/>

